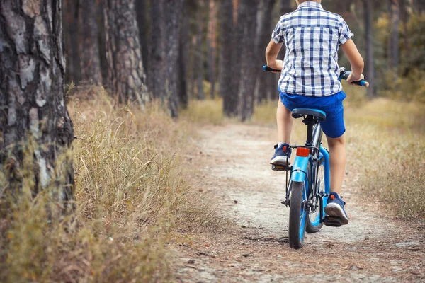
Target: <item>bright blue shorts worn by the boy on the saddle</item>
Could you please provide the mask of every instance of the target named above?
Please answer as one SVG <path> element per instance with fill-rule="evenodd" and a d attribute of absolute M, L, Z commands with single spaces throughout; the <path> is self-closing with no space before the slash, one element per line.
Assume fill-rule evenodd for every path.
<path fill-rule="evenodd" d="M 300 96 L 298 94 L 280 93 L 280 100 L 285 108 L 292 111 L 295 108 L 313 108 L 326 113 L 326 121 L 320 122 L 327 137 L 341 137 L 345 132 L 344 106 L 346 98 L 344 91 L 331 96 Z"/>

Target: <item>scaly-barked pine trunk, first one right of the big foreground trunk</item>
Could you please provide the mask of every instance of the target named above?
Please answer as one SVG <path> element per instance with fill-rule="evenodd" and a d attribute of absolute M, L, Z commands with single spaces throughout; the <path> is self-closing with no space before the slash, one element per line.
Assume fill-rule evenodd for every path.
<path fill-rule="evenodd" d="M 120 103 L 137 101 L 145 105 L 145 86 L 134 0 L 108 0 L 105 3 L 106 59 L 108 86 Z"/>

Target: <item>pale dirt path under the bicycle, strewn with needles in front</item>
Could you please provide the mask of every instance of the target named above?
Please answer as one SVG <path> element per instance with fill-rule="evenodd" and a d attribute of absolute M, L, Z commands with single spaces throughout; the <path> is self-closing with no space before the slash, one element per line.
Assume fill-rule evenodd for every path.
<path fill-rule="evenodd" d="M 200 131 L 200 187 L 233 220 L 178 248 L 178 282 L 425 281 L 425 227 L 386 216 L 358 194 L 359 171 L 348 144 L 344 200 L 350 224 L 307 234 L 305 248 L 288 244 L 285 173 L 268 165 L 274 127 L 227 125 Z M 363 200 L 363 201 L 362 201 Z M 371 203 L 372 202 L 372 203 Z M 205 234 L 205 235 L 204 235 Z M 195 237 L 195 236 L 194 236 Z"/>

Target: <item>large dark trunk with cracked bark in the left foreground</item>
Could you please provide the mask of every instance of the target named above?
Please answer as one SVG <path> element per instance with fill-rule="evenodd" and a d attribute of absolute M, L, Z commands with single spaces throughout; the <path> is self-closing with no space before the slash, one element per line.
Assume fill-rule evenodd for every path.
<path fill-rule="evenodd" d="M 67 213 L 74 130 L 64 101 L 62 1 L 37 3 L 0 1 L 0 186 L 21 192 L 25 181 L 33 195 L 48 187 Z"/>

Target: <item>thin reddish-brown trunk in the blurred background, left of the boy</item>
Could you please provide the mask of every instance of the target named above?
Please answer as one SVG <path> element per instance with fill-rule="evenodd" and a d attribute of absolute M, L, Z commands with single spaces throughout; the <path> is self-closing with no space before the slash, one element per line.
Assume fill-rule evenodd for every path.
<path fill-rule="evenodd" d="M 215 52 L 217 35 L 215 27 L 217 25 L 217 16 L 215 11 L 215 0 L 210 0 L 210 16 L 208 21 L 208 76 L 211 83 L 210 98 L 215 96 Z"/>

